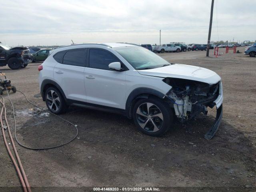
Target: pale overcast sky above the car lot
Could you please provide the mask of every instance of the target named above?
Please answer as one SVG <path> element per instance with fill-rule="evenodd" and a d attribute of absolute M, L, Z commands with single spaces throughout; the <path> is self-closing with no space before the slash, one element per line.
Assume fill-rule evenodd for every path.
<path fill-rule="evenodd" d="M 206 43 L 211 2 L 0 0 L 0 42 L 68 45 L 72 39 L 74 43 L 159 44 L 162 29 L 161 43 Z M 255 8 L 255 0 L 215 0 L 211 40 L 256 40 Z"/>

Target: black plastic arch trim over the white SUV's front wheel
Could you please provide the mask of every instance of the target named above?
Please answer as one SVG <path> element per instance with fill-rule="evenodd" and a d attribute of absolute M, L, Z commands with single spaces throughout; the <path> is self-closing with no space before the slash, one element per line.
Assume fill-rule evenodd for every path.
<path fill-rule="evenodd" d="M 146 87 L 136 88 L 129 94 L 126 100 L 126 116 L 128 118 L 132 118 L 132 105 L 134 104 L 134 100 L 137 98 L 148 98 L 149 95 L 154 95 L 158 98 L 164 98 L 164 94 L 157 90 Z"/>

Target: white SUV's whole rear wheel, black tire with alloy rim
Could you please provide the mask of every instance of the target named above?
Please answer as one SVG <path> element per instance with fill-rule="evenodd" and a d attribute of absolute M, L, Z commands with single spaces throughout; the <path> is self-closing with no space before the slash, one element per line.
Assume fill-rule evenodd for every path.
<path fill-rule="evenodd" d="M 49 87 L 45 92 L 45 103 L 50 112 L 62 114 L 66 112 L 66 102 L 58 89 Z"/>

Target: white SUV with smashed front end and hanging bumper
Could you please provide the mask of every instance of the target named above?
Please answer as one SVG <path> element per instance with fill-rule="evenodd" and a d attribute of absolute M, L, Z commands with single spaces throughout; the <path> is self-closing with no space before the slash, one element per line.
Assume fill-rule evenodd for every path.
<path fill-rule="evenodd" d="M 210 139 L 222 119 L 222 83 L 215 72 L 172 64 L 141 46 L 75 44 L 50 51 L 38 66 L 40 92 L 48 109 L 93 106 L 133 118 L 138 129 L 158 136 L 172 125 L 207 114 L 216 106 Z"/>

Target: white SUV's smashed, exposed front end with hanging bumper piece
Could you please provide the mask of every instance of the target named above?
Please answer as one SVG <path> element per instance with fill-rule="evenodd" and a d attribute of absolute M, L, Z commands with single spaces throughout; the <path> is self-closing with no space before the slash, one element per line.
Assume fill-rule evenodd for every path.
<path fill-rule="evenodd" d="M 174 108 L 175 115 L 182 123 L 195 118 L 200 113 L 207 115 L 207 107 L 216 106 L 216 119 L 204 136 L 210 140 L 222 120 L 222 82 L 208 84 L 180 78 L 165 78 L 163 81 L 172 86 L 166 96 Z"/>

